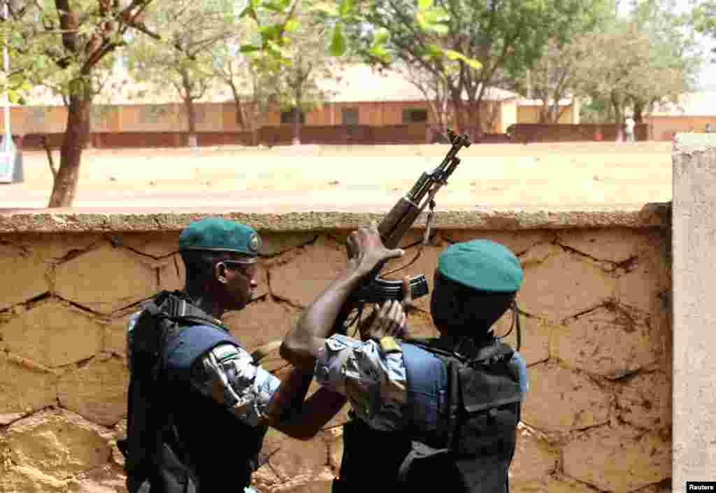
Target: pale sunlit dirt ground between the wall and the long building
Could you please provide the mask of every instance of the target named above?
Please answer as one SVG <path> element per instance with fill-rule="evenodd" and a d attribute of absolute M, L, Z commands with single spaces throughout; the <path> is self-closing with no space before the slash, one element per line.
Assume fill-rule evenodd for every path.
<path fill-rule="evenodd" d="M 382 210 L 447 145 L 87 150 L 77 208 Z M 672 197 L 671 143 L 472 145 L 438 209 L 590 208 Z M 55 153 L 59 161 L 59 152 Z M 47 205 L 44 152 L 24 153 L 24 183 L 0 183 L 0 209 Z"/>

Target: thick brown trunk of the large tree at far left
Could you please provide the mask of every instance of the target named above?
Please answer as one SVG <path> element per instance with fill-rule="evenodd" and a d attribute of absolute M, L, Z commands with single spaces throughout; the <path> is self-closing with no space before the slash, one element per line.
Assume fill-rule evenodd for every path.
<path fill-rule="evenodd" d="M 82 83 L 80 90 L 69 97 L 67 128 L 64 130 L 59 151 L 59 169 L 49 197 L 48 208 L 72 207 L 79 181 L 79 164 L 82 150 L 89 138 L 89 111 L 92 109 L 92 91 Z"/>

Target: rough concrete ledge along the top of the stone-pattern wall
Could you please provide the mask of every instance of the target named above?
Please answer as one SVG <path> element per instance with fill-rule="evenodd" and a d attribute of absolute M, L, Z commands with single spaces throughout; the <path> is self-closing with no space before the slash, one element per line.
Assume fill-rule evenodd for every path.
<path fill-rule="evenodd" d="M 357 208 L 353 208 L 357 209 Z M 272 210 L 269 213 L 266 210 Z M 0 234 L 179 231 L 205 216 L 223 216 L 251 224 L 259 231 L 354 229 L 382 219 L 386 207 L 314 211 L 306 207 L 276 210 L 237 209 L 0 209 Z M 609 204 L 584 207 L 465 207 L 435 211 L 440 229 L 568 229 L 669 227 L 671 203 Z M 416 229 L 424 229 L 425 213 Z"/>

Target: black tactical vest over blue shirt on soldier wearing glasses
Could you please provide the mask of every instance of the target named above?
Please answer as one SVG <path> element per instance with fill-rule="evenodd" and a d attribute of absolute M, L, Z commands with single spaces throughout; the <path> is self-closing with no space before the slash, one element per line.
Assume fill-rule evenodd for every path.
<path fill-rule="evenodd" d="M 193 363 L 206 351 L 228 343 L 241 348 L 225 327 L 181 297 L 164 293 L 160 307 L 150 303 L 158 337 L 147 334 L 142 317 L 133 336 L 127 441 L 127 488 L 151 493 L 213 493 L 243 487 L 258 466 L 266 426 L 243 424 L 224 406 L 190 383 Z M 179 295 L 178 293 L 176 295 Z M 149 341 L 149 343 L 147 343 Z M 142 345 L 147 347 L 142 347 Z"/>

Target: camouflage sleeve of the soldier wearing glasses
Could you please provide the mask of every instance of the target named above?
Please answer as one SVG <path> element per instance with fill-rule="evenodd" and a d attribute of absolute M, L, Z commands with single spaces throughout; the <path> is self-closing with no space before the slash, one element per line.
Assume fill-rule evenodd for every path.
<path fill-rule="evenodd" d="M 192 368 L 191 382 L 249 426 L 258 426 L 281 384 L 254 365 L 250 354 L 231 344 L 218 345 L 200 358 Z"/>

